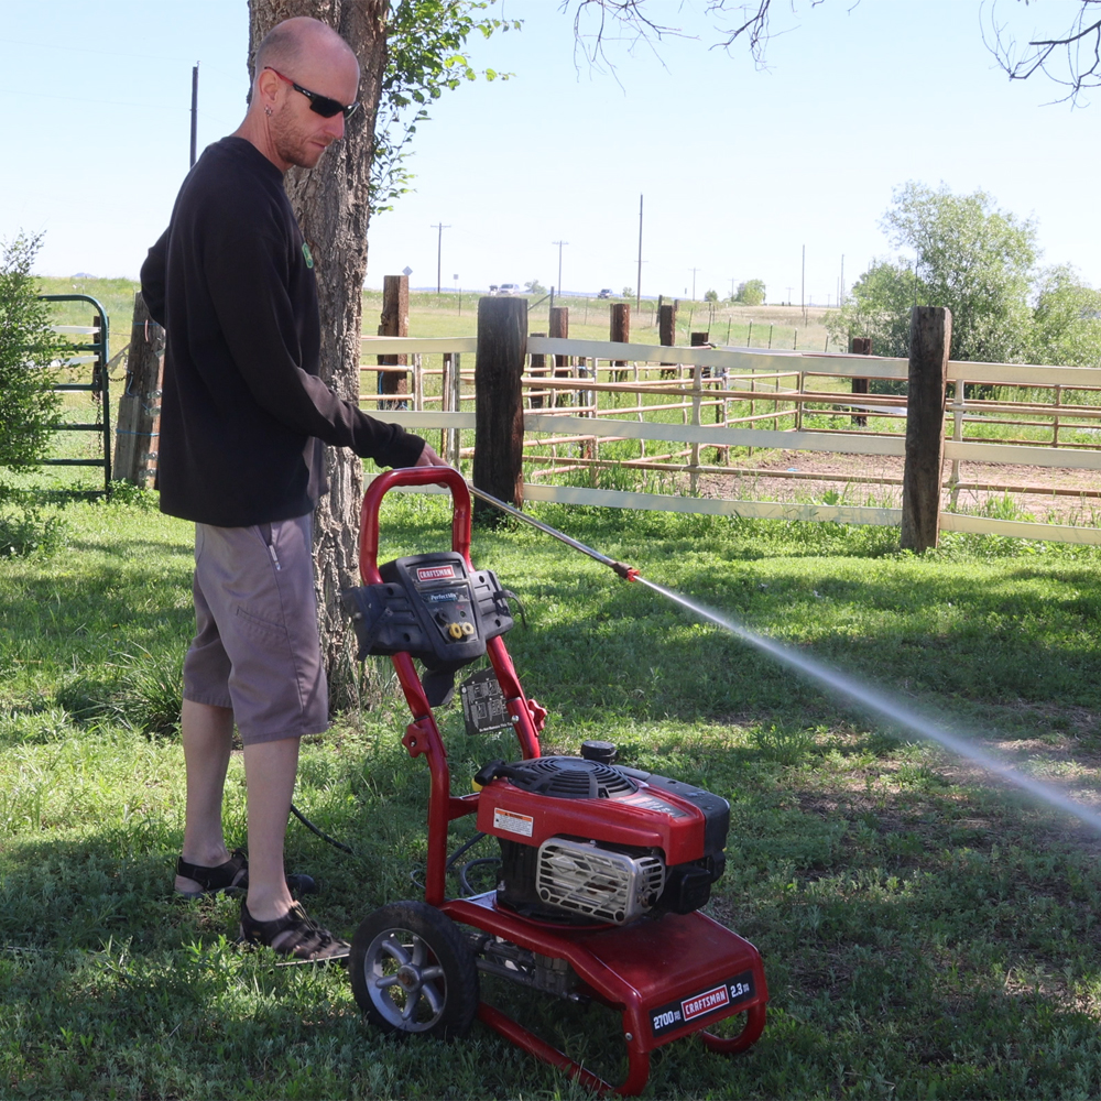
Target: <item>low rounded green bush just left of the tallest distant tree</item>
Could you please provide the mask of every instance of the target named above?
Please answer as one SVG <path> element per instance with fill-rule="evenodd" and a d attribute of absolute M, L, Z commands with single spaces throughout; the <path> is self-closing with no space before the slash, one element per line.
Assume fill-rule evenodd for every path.
<path fill-rule="evenodd" d="M 926 302 L 925 285 L 905 261 L 876 260 L 853 283 L 846 304 L 826 314 L 826 331 L 842 348 L 851 337 L 871 337 L 876 356 L 908 356 L 909 310 Z"/>

